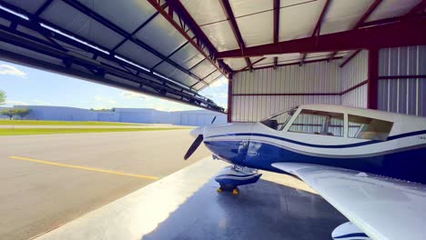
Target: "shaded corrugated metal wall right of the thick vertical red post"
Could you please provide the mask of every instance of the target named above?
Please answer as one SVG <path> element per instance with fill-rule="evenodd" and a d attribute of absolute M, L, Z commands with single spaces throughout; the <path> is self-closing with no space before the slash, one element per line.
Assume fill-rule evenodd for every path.
<path fill-rule="evenodd" d="M 426 45 L 380 49 L 379 75 L 426 75 Z M 426 116 L 426 78 L 391 78 L 379 80 L 379 109 Z"/>

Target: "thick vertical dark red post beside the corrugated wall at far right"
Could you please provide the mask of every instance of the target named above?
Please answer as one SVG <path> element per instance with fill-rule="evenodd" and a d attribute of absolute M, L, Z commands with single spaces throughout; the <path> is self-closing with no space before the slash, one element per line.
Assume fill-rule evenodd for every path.
<path fill-rule="evenodd" d="M 377 109 L 379 88 L 379 48 L 369 50 L 369 79 L 367 85 L 367 108 Z"/>

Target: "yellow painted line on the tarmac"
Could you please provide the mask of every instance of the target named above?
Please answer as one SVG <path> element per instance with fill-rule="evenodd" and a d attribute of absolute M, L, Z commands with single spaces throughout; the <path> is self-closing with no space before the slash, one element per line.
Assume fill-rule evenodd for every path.
<path fill-rule="evenodd" d="M 29 161 L 29 162 L 44 164 L 44 165 L 56 165 L 56 166 L 70 167 L 70 168 L 76 168 L 76 169 L 83 169 L 83 170 L 99 172 L 99 173 L 104 173 L 104 174 L 110 174 L 110 175 L 126 175 L 126 176 L 133 176 L 133 177 L 145 178 L 145 179 L 150 179 L 150 180 L 158 180 L 159 179 L 159 177 L 157 177 L 157 176 L 127 174 L 127 173 L 111 171 L 111 170 L 106 170 L 106 169 L 100 169 L 100 168 L 94 168 L 94 167 L 87 167 L 87 166 L 82 166 L 82 165 L 59 164 L 59 163 L 55 163 L 55 162 L 37 160 L 37 159 L 33 159 L 33 158 L 15 156 L 15 155 L 10 155 L 9 158 L 12 158 L 12 159 L 15 159 L 15 160 L 24 160 L 24 161 Z"/>

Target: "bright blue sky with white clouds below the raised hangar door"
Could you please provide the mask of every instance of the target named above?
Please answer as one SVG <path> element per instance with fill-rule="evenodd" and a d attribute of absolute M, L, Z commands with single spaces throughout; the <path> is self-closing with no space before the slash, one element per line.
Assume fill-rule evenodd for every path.
<path fill-rule="evenodd" d="M 0 61 L 0 90 L 6 105 L 62 105 L 80 108 L 138 107 L 162 111 L 197 110 L 161 98 L 98 85 L 65 75 L 52 74 L 23 65 Z M 220 78 L 200 92 L 226 108 L 228 83 Z"/>

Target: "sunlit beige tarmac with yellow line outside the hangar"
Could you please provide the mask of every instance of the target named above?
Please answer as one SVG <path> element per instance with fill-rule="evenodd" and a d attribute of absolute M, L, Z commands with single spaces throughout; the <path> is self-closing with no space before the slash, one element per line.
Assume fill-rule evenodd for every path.
<path fill-rule="evenodd" d="M 190 129 L 0 137 L 0 239 L 29 239 L 209 155 Z"/>

